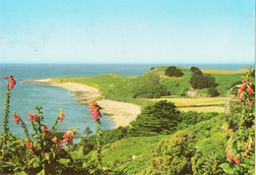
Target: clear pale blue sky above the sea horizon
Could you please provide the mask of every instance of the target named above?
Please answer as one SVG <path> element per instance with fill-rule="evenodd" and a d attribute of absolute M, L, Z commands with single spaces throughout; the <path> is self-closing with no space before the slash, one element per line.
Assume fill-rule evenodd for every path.
<path fill-rule="evenodd" d="M 0 0 L 0 63 L 254 63 L 254 0 Z"/>

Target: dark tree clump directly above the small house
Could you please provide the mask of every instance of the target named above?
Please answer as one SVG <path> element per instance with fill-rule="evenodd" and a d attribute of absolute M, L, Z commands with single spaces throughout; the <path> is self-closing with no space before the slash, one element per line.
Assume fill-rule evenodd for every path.
<path fill-rule="evenodd" d="M 191 87 L 193 88 L 209 88 L 209 87 L 218 87 L 219 84 L 216 83 L 215 78 L 211 75 L 204 75 L 200 69 L 197 67 L 191 67 L 190 71 L 192 72 L 192 77 L 189 81 Z"/>

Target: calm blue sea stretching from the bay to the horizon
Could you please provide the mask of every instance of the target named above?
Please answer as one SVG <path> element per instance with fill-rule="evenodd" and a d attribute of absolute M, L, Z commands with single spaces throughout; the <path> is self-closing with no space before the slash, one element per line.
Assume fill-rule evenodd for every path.
<path fill-rule="evenodd" d="M 151 68 L 160 66 L 181 66 L 190 68 L 196 66 L 201 70 L 231 70 L 246 69 L 245 64 L 0 64 L 0 131 L 3 126 L 3 110 L 7 81 L 3 77 L 13 75 L 17 85 L 12 89 L 9 128 L 14 136 L 25 138 L 23 128 L 13 122 L 13 113 L 18 113 L 28 125 L 30 132 L 32 126 L 28 113 L 35 113 L 35 105 L 42 106 L 44 122 L 52 127 L 59 109 L 66 114 L 65 119 L 58 124 L 59 132 L 66 132 L 73 127 L 79 127 L 76 134 L 76 143 L 85 136 L 87 127 L 96 133 L 94 122 L 88 106 L 77 102 L 70 90 L 62 87 L 52 87 L 38 84 L 24 84 L 25 81 L 46 78 L 66 77 L 96 77 L 102 74 L 118 74 L 121 76 L 141 76 Z M 254 65 L 251 65 L 254 68 Z M 110 130 L 115 123 L 110 117 L 102 114 L 101 128 Z"/>

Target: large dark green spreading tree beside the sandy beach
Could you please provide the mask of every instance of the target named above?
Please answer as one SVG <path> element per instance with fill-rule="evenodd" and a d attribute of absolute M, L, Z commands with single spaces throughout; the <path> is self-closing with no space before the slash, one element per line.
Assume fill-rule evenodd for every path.
<path fill-rule="evenodd" d="M 135 136 L 170 134 L 176 129 L 179 121 L 180 112 L 174 103 L 161 100 L 145 107 L 136 120 L 131 122 L 131 130 Z"/>

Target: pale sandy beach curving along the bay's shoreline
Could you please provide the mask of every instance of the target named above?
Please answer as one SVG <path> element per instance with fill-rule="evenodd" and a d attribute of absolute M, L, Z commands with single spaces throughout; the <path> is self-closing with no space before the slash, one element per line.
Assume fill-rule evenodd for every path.
<path fill-rule="evenodd" d="M 50 79 L 40 79 L 35 83 L 67 88 L 77 97 L 77 101 L 83 105 L 90 105 L 91 101 L 100 96 L 100 91 L 97 88 L 77 83 L 51 83 Z M 100 111 L 115 122 L 115 128 L 128 126 L 129 123 L 135 120 L 136 116 L 141 113 L 140 106 L 127 102 L 99 99 L 97 103 L 102 107 Z"/>

